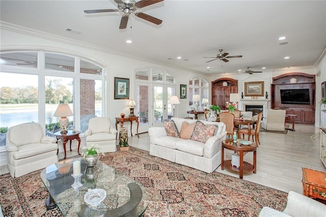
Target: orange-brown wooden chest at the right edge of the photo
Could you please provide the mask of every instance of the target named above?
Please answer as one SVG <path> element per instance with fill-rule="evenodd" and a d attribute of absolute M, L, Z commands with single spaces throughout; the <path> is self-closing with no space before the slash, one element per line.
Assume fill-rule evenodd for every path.
<path fill-rule="evenodd" d="M 304 195 L 326 204 L 326 173 L 302 168 Z"/>

